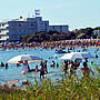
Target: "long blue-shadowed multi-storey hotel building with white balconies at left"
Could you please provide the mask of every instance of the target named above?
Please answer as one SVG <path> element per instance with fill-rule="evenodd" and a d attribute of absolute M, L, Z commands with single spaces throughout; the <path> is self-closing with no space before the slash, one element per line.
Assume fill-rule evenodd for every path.
<path fill-rule="evenodd" d="M 69 32 L 69 26 L 49 26 L 49 21 L 43 21 L 42 17 L 14 19 L 0 22 L 0 41 L 20 41 L 21 37 L 36 32 Z"/>

